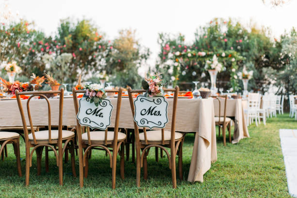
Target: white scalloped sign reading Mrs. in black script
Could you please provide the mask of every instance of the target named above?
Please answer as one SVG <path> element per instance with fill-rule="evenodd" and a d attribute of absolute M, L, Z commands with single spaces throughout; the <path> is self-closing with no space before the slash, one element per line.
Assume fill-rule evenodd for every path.
<path fill-rule="evenodd" d="M 134 101 L 134 107 L 134 121 L 138 127 L 164 128 L 168 122 L 168 102 L 163 96 L 145 97 L 139 95 Z"/>

